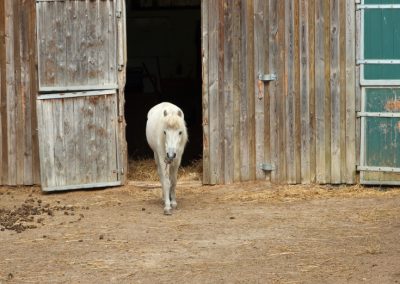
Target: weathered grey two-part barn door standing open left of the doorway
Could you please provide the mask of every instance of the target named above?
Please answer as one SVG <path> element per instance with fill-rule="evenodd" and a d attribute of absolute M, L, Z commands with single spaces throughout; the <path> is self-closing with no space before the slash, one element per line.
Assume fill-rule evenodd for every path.
<path fill-rule="evenodd" d="M 123 8 L 122 0 L 36 1 L 44 191 L 123 180 Z"/>

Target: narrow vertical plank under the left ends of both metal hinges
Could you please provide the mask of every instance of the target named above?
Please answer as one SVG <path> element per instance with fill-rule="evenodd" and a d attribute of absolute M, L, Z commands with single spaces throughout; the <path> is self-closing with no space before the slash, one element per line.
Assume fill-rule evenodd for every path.
<path fill-rule="evenodd" d="M 265 172 L 261 164 L 265 162 L 265 100 L 268 86 L 257 79 L 258 74 L 267 74 L 269 71 L 265 62 L 268 51 L 266 36 L 266 14 L 267 2 L 262 0 L 254 1 L 254 89 L 255 94 L 255 164 L 256 179 L 265 179 Z"/>

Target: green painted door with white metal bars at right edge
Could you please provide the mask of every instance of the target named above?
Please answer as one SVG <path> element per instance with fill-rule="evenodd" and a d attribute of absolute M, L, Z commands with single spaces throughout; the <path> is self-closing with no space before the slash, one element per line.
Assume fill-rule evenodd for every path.
<path fill-rule="evenodd" d="M 360 182 L 400 184 L 400 0 L 360 8 Z"/>

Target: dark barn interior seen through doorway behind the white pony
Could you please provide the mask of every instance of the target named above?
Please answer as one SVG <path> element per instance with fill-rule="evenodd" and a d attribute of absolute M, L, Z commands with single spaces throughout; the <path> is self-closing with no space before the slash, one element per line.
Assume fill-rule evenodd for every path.
<path fill-rule="evenodd" d="M 129 159 L 153 157 L 146 116 L 168 101 L 185 114 L 189 142 L 182 165 L 201 158 L 200 0 L 126 1 L 128 63 L 125 87 Z"/>

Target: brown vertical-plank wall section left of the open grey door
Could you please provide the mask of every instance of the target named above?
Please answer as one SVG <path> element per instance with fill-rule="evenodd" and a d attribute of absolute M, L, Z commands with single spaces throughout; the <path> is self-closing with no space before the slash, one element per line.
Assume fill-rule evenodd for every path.
<path fill-rule="evenodd" d="M 34 1 L 0 1 L 0 184 L 39 183 Z"/>

